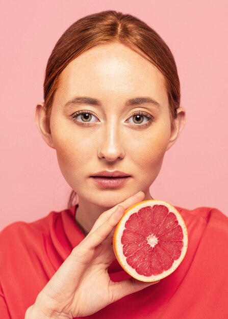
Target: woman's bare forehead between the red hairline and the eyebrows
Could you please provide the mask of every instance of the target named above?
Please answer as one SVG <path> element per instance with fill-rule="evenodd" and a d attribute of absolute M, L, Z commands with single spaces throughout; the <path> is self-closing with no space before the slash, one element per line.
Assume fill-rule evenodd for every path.
<path fill-rule="evenodd" d="M 144 95 L 167 100 L 161 72 L 141 52 L 121 43 L 98 45 L 75 58 L 62 71 L 57 91 L 65 98 Z"/>

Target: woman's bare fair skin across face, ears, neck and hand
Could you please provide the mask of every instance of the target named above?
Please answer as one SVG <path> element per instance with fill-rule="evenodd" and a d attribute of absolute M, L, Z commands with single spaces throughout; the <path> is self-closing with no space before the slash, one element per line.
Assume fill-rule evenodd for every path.
<path fill-rule="evenodd" d="M 95 98 L 99 105 L 71 102 L 64 106 L 79 96 Z M 157 104 L 125 104 L 136 97 L 150 97 Z M 75 115 L 79 111 L 92 115 Z M 140 115 L 139 122 L 133 113 Z M 185 124 L 182 107 L 176 119 L 170 119 L 163 75 L 128 46 L 93 47 L 62 71 L 50 125 L 46 125 L 43 103 L 36 107 L 35 120 L 44 141 L 56 149 L 61 172 L 78 195 L 76 221 L 87 236 L 40 292 L 26 319 L 89 315 L 155 284 L 133 278 L 114 283 L 107 270 L 115 259 L 114 227 L 125 209 L 152 199 L 149 187 Z M 131 178 L 120 188 L 102 188 L 90 177 L 102 170 L 120 170 Z"/>

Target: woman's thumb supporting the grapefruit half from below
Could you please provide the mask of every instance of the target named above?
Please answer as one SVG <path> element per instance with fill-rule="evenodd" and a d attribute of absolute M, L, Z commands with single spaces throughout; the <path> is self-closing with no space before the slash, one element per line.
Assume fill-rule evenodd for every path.
<path fill-rule="evenodd" d="M 126 279 L 119 282 L 113 282 L 112 302 L 117 301 L 120 298 L 123 298 L 130 294 L 136 293 L 137 291 L 140 291 L 146 287 L 159 283 L 160 281 L 161 280 L 153 281 L 153 282 L 144 282 L 144 281 L 139 281 L 135 278 L 130 278 L 130 279 Z"/>

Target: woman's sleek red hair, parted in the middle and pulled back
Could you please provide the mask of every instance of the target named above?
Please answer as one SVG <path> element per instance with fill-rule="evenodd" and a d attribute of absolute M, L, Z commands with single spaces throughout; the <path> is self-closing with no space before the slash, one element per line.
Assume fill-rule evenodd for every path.
<path fill-rule="evenodd" d="M 44 79 L 44 108 L 47 125 L 55 91 L 65 67 L 83 52 L 95 45 L 119 42 L 137 51 L 151 62 L 164 76 L 168 94 L 170 118 L 176 117 L 180 107 L 180 81 L 174 57 L 158 33 L 145 22 L 116 11 L 103 11 L 87 15 L 74 22 L 63 33 L 50 55 Z M 68 207 L 72 206 L 72 191 Z"/>

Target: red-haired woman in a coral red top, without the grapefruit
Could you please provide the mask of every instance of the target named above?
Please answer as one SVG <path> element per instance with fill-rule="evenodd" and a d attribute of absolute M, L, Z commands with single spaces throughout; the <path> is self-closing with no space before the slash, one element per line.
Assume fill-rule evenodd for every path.
<path fill-rule="evenodd" d="M 48 60 L 35 119 L 78 203 L 1 232 L 1 317 L 225 318 L 228 222 L 219 210 L 178 207 L 189 247 L 160 282 L 130 278 L 112 249 L 114 227 L 126 208 L 152 198 L 185 124 L 161 37 L 115 11 L 73 23 Z"/>

